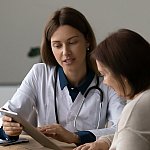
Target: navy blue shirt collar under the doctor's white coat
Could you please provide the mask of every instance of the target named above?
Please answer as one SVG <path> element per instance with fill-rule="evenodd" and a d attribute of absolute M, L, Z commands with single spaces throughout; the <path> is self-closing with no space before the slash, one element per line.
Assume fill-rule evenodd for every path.
<path fill-rule="evenodd" d="M 69 81 L 67 80 L 67 77 L 66 77 L 62 67 L 58 68 L 58 74 L 59 74 L 61 90 L 63 90 L 65 86 L 68 86 L 68 85 L 71 86 Z M 89 87 L 90 83 L 92 82 L 92 80 L 94 78 L 94 75 L 95 75 L 94 72 L 92 70 L 88 69 L 86 79 L 82 83 L 80 83 L 78 87 L 76 87 L 82 94 L 84 94 L 84 92 Z"/>

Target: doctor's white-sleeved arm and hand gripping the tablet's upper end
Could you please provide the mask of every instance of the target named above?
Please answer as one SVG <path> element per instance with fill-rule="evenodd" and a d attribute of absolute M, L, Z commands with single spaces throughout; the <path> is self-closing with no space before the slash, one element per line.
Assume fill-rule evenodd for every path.
<path fill-rule="evenodd" d="M 30 117 L 35 111 L 33 106 L 36 105 L 36 78 L 34 74 L 34 68 L 35 67 L 33 67 L 27 74 L 21 86 L 13 95 L 12 99 L 6 102 L 6 104 L 3 106 L 4 109 L 19 112 L 19 114 L 28 121 L 32 121 Z M 5 131 L 4 133 L 6 136 L 9 135 L 13 137 L 21 134 L 22 127 L 19 123 L 13 122 L 12 118 L 4 116 L 3 130 Z"/>

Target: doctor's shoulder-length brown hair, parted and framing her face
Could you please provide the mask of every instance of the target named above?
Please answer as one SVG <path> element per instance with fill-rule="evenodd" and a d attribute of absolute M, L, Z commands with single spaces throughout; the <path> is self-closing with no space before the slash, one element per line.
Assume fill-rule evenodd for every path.
<path fill-rule="evenodd" d="M 60 10 L 54 12 L 53 16 L 48 20 L 44 29 L 41 43 L 41 56 L 43 62 L 47 65 L 54 66 L 58 64 L 53 55 L 50 43 L 53 33 L 58 29 L 58 27 L 63 25 L 70 25 L 79 30 L 84 35 L 85 39 L 89 42 L 89 53 L 96 47 L 95 35 L 85 16 L 73 8 L 61 8 Z M 89 66 L 92 66 L 92 61 L 90 60 L 89 55 L 87 55 L 87 59 Z"/>

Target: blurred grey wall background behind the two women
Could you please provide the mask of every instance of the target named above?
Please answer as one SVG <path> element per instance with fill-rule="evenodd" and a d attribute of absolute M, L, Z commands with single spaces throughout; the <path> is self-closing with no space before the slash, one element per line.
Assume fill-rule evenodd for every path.
<path fill-rule="evenodd" d="M 150 41 L 149 0 L 0 0 L 0 106 L 40 62 L 45 23 L 63 6 L 86 16 L 98 43 L 119 28 L 135 30 Z"/>

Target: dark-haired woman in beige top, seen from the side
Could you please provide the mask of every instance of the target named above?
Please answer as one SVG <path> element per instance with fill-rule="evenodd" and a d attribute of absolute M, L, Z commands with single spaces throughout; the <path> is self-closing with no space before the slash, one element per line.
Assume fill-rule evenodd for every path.
<path fill-rule="evenodd" d="M 150 44 L 138 33 L 121 29 L 102 41 L 92 56 L 103 82 L 132 101 L 122 112 L 114 139 L 103 136 L 76 150 L 149 150 Z"/>

